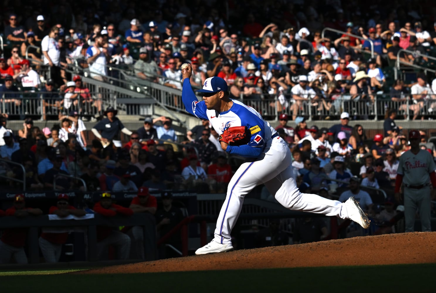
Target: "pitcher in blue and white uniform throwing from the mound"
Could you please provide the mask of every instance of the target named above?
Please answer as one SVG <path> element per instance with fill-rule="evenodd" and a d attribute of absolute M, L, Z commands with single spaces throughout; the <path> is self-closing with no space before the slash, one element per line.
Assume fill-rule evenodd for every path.
<path fill-rule="evenodd" d="M 246 160 L 228 184 L 214 239 L 197 249 L 195 254 L 233 249 L 230 233 L 241 212 L 244 197 L 259 184 L 265 184 L 269 192 L 286 208 L 350 218 L 363 228 L 369 227 L 368 217 L 353 197 L 341 203 L 315 194 L 301 193 L 294 179 L 291 152 L 276 130 L 255 109 L 230 99 L 227 83 L 222 78 L 214 76 L 204 81 L 203 89 L 198 91 L 203 95 L 203 100 L 199 102 L 191 87 L 191 73 L 191 65 L 182 69 L 182 101 L 187 112 L 200 119 L 208 119 L 219 134 L 233 126 L 246 126 L 251 132 L 248 144 L 230 146 L 221 142 L 221 148 L 227 153 L 238 154 Z"/>

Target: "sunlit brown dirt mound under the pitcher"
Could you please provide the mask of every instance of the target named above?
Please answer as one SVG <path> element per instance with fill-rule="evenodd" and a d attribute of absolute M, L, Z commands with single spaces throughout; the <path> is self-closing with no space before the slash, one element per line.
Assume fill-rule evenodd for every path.
<path fill-rule="evenodd" d="M 90 269 L 78 273 L 151 273 L 436 263 L 436 232 L 412 232 L 244 249 Z"/>

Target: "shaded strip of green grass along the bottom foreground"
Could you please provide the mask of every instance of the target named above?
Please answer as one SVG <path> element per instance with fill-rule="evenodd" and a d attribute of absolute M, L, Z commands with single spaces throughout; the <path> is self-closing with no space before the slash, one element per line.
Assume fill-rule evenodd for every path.
<path fill-rule="evenodd" d="M 267 260 L 266 260 L 267 261 Z M 2 292 L 435 292 L 436 264 L 82 275 L 4 272 Z M 41 274 L 41 272 L 44 272 Z M 23 277 L 23 275 L 27 275 Z M 134 290 L 134 291 L 133 291 Z M 138 291 L 139 290 L 139 291 Z M 279 290 L 279 291 L 278 291 Z"/>

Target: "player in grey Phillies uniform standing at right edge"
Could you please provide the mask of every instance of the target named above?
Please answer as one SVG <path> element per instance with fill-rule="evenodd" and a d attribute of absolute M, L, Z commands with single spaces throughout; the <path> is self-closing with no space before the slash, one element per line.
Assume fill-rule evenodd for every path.
<path fill-rule="evenodd" d="M 419 210 L 422 232 L 430 232 L 430 201 L 436 191 L 435 163 L 427 150 L 419 148 L 421 134 L 418 130 L 409 132 L 410 150 L 400 157 L 395 180 L 395 198 L 401 200 L 400 186 L 404 185 L 405 232 L 413 232 L 416 210 Z M 430 191 L 430 181 L 433 190 Z"/>

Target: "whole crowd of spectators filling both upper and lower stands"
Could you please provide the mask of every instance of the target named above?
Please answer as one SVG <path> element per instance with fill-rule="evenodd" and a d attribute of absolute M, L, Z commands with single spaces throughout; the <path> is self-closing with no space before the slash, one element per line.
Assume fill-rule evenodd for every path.
<path fill-rule="evenodd" d="M 65 72 L 66 68 L 79 66 L 88 70 L 92 78 L 107 82 L 106 65 L 112 65 L 130 68 L 138 79 L 181 89 L 180 67 L 191 63 L 194 86 L 201 87 L 205 78 L 218 75 L 228 82 L 234 99 L 242 96 L 248 102 L 276 101 L 272 102 L 279 112 L 276 130 L 292 150 L 294 172 L 302 191 L 339 196 L 343 201 L 352 195 L 360 199 L 371 217 L 390 220 L 396 213 L 395 207 L 401 204 L 393 198 L 397 158 L 410 147 L 394 120 L 397 114 L 401 118 L 405 109 L 412 111 L 413 119 L 424 119 L 426 113 L 431 113 L 436 82 L 429 84 L 434 76 L 419 72 L 406 84 L 384 76 L 384 72 L 392 69 L 398 54 L 402 65 L 409 65 L 411 71 L 410 65 L 429 66 L 429 59 L 419 54 L 433 55 L 436 23 L 431 27 L 433 19 L 407 3 L 393 10 L 383 3 L 379 7 L 357 8 L 340 1 L 294 2 L 230 2 L 228 14 L 224 7 L 212 8 L 199 1 L 101 5 L 60 1 L 52 7 L 45 7 L 41 1 L 32 3 L 32 9 L 25 13 L 18 13 L 22 10 L 14 9 L 14 3 L 10 3 L 10 10 L 2 11 L 7 20 L 2 25 L 3 41 L 7 44 L 4 48 L 8 51 L 2 52 L 4 58 L 0 58 L 0 94 L 2 102 L 10 107 L 3 109 L 0 117 L 2 159 L 25 167 L 26 187 L 30 191 L 80 189 L 80 181 L 68 177 L 59 177 L 54 184 L 58 174 L 80 177 L 89 191 L 102 193 L 93 210 L 103 215 L 158 214 L 156 198 L 150 196 L 149 190 L 225 192 L 232 177 L 231 158 L 222 152 L 218 133 L 208 121 L 187 129 L 183 138 L 176 136 L 168 117 L 147 117 L 138 129 L 126 129 L 116 117 L 116 109 L 103 109 L 98 97 L 89 93 L 81 75 Z M 251 9 L 246 10 L 247 7 Z M 268 21 L 264 23 L 265 20 Z M 324 27 L 346 31 L 363 40 L 331 32 L 322 37 Z M 368 40 L 374 44 L 373 58 Z M 401 48 L 412 53 L 400 52 Z M 52 79 L 41 80 L 42 65 L 50 68 Z M 12 109 L 12 105 L 24 102 L 21 93 L 35 90 L 44 95 L 44 113 L 53 110 L 59 123 L 40 129 L 24 112 Z M 299 116 L 307 103 L 319 112 L 328 112 L 335 107 L 334 99 L 341 95 L 360 101 L 361 107 L 371 107 L 380 92 L 390 94 L 389 99 L 398 107 L 387 109 L 384 133 L 374 138 L 367 138 L 361 125 L 348 125 L 350 120 L 360 118 L 352 109 L 343 109 L 350 113 L 341 110 L 339 123 L 332 121 L 330 128 L 307 127 L 306 118 Z M 23 128 L 9 129 L 9 118 L 24 119 Z M 90 129 L 95 136 L 92 140 L 83 123 L 87 120 L 95 123 Z M 129 136 L 124 144 L 121 133 Z M 421 133 L 421 147 L 436 157 L 426 132 Z M 21 169 L 3 161 L 1 168 L 7 177 L 24 175 Z M 19 184 L 4 181 L 2 187 L 14 191 Z M 381 197 L 377 189 L 385 191 L 388 198 Z M 137 191 L 138 197 L 129 207 L 122 207 L 110 201 L 110 192 L 118 191 Z M 169 224 L 165 215 L 170 213 L 171 196 L 162 198 L 164 211 L 158 218 L 158 228 Z M 262 189 L 259 198 L 273 200 L 266 189 Z M 24 196 L 17 194 L 13 208 L 23 209 L 23 202 Z M 385 209 L 381 208 L 383 205 Z M 63 195 L 50 213 L 67 207 L 68 196 Z M 74 208 L 71 206 L 61 215 L 77 212 L 70 210 Z M 42 211 L 34 208 L 25 213 L 39 215 Z M 7 215 L 17 213 L 8 210 Z M 300 224 L 298 227 L 308 225 Z M 319 226 L 312 241 L 326 236 L 325 226 Z M 301 236 L 303 230 L 296 229 L 300 234 L 295 235 Z M 134 235 L 140 232 L 134 231 L 131 237 L 136 241 Z M 388 227 L 385 232 L 395 230 Z M 111 239 L 115 243 L 121 238 L 130 245 L 130 238 L 127 241 L 123 233 L 102 233 L 106 237 L 100 241 Z M 300 236 L 295 240 L 305 242 Z M 52 244 L 60 241 L 47 235 L 41 235 L 41 239 L 41 247 L 51 240 Z M 21 253 L 13 249 L 16 243 L 5 241 L 2 238 L 2 245 Z M 108 244 L 109 240 L 103 243 Z M 24 242 L 20 244 L 23 246 Z M 127 258 L 126 246 L 119 249 L 118 256 Z M 22 254 L 17 262 L 20 257 Z"/>

